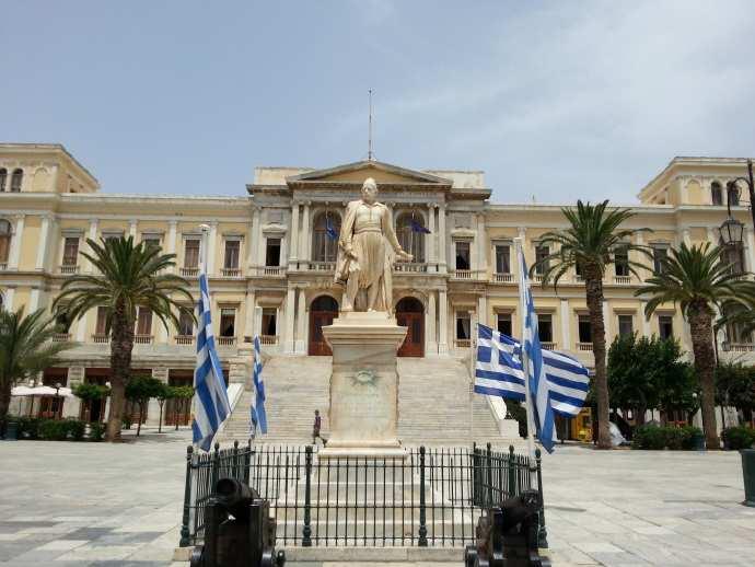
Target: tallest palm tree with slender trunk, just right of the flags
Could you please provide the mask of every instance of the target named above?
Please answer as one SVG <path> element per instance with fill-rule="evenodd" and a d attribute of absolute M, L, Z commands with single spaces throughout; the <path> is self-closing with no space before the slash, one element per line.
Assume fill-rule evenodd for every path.
<path fill-rule="evenodd" d="M 597 402 L 597 447 L 611 449 L 608 428 L 608 383 L 605 370 L 605 322 L 603 321 L 603 276 L 606 267 L 616 262 L 616 252 L 626 253 L 622 263 L 637 276 L 636 268 L 643 268 L 629 259 L 630 251 L 647 254 L 647 248 L 631 242 L 631 236 L 649 229 L 622 229 L 620 225 L 634 217 L 628 209 L 607 210 L 608 201 L 591 205 L 577 201 L 577 208 L 562 208 L 569 222 L 562 231 L 546 232 L 541 244 L 548 246 L 549 253 L 539 258 L 532 271 L 543 275 L 543 287 L 553 282 L 558 288 L 559 280 L 570 269 L 578 270 L 584 279 L 590 326 L 592 329 L 592 351 L 595 356 L 595 397 Z"/>

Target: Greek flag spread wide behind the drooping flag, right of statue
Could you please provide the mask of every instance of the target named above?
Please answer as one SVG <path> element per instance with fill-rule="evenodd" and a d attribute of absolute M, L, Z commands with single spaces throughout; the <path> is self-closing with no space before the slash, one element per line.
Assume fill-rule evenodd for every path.
<path fill-rule="evenodd" d="M 475 392 L 524 401 L 522 346 L 515 338 L 485 325 L 477 327 Z M 574 417 L 584 405 L 590 389 L 588 369 L 562 352 L 543 350 L 545 377 L 550 389 L 550 406 L 565 417 Z"/>

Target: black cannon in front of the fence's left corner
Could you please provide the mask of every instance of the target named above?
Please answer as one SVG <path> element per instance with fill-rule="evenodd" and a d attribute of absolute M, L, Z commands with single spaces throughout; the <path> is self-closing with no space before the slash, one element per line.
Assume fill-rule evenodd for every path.
<path fill-rule="evenodd" d="M 191 567 L 283 567 L 276 553 L 270 504 L 235 478 L 220 478 L 205 507 L 205 545 L 191 553 Z"/>

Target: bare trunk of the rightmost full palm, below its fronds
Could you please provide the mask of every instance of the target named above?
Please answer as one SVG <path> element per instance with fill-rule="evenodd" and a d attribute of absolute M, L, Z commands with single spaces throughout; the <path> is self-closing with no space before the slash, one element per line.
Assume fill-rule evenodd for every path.
<path fill-rule="evenodd" d="M 716 355 L 713 352 L 713 314 L 705 301 L 689 305 L 689 331 L 692 334 L 695 370 L 702 391 L 700 412 L 705 430 L 706 448 L 721 449 L 716 427 Z"/>

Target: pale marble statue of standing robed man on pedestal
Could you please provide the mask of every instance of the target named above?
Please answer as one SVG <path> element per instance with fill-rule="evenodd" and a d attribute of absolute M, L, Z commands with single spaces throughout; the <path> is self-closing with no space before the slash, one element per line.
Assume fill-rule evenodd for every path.
<path fill-rule="evenodd" d="M 414 258 L 398 244 L 391 212 L 376 198 L 378 184 L 369 177 L 362 185 L 362 198 L 346 207 L 335 276 L 337 282 L 346 281 L 342 312 L 355 310 L 360 289 L 367 290 L 367 311 L 390 311 L 393 262 Z"/>

